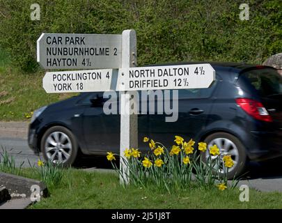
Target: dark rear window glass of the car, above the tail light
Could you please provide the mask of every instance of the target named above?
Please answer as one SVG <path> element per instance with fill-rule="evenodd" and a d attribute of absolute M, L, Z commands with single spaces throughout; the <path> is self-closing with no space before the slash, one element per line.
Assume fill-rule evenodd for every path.
<path fill-rule="evenodd" d="M 275 69 L 263 68 L 242 72 L 238 82 L 246 89 L 256 89 L 263 98 L 282 95 L 282 77 Z"/>

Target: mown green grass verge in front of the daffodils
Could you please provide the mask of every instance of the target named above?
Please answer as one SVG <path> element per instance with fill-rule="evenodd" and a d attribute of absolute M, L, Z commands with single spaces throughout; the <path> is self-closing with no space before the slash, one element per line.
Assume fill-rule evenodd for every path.
<path fill-rule="evenodd" d="M 32 169 L 22 175 L 40 179 Z M 250 190 L 250 201 L 239 200 L 240 190 L 200 190 L 196 187 L 174 192 L 159 192 L 153 185 L 144 190 L 123 188 L 118 176 L 66 169 L 61 183 L 49 188 L 50 197 L 30 208 L 282 208 L 282 193 Z M 145 198 L 146 197 L 146 198 Z"/>

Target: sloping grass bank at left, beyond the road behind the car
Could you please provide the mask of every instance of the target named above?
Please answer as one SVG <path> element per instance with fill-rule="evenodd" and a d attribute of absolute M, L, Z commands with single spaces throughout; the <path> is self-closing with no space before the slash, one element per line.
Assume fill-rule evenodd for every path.
<path fill-rule="evenodd" d="M 29 121 L 35 109 L 74 94 L 47 94 L 42 88 L 45 72 L 19 72 L 10 64 L 8 54 L 0 49 L 0 121 Z"/>

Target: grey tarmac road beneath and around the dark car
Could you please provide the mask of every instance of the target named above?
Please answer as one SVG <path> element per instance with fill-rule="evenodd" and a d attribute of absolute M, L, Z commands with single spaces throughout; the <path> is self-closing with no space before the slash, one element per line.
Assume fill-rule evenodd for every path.
<path fill-rule="evenodd" d="M 29 148 L 26 132 L 17 128 L 17 132 L 11 134 L 16 129 L 14 128 L 16 127 L 15 125 L 13 124 L 13 128 L 3 129 L 3 125 L 0 123 L 0 153 L 2 152 L 1 147 L 5 148 L 10 155 L 15 157 L 17 167 L 20 165 L 22 167 L 36 165 L 40 157 L 34 155 Z M 21 126 L 26 128 L 27 124 Z M 75 167 L 87 171 L 92 171 L 93 169 L 109 171 L 111 164 L 107 162 L 105 157 L 83 157 L 77 162 Z M 265 192 L 282 192 L 282 159 L 264 163 L 251 162 L 244 180 L 240 181 L 241 184 L 246 184 Z"/>

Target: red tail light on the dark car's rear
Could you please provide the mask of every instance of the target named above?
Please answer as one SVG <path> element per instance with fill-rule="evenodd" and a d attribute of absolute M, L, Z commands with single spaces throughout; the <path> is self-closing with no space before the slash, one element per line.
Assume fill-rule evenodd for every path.
<path fill-rule="evenodd" d="M 252 100 L 249 98 L 236 98 L 237 105 L 239 105 L 244 112 L 261 121 L 272 121 L 272 117 L 269 116 L 267 109 L 261 102 Z"/>

